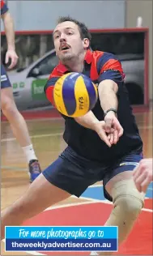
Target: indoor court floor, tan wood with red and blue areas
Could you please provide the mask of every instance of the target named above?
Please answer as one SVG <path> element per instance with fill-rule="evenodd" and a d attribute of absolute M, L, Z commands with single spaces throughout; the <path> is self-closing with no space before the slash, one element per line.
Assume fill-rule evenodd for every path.
<path fill-rule="evenodd" d="M 144 143 L 144 156 L 152 157 L 152 112 L 135 114 L 139 131 Z M 45 169 L 66 147 L 62 140 L 64 122 L 62 119 L 39 119 L 27 121 L 36 156 L 41 169 Z M 1 169 L 2 209 L 13 203 L 28 189 L 29 179 L 23 151 L 16 142 L 8 122 L 1 126 Z M 121 245 L 117 255 L 153 254 L 153 185 L 148 187 L 145 205 L 130 237 Z M 112 209 L 112 203 L 104 198 L 100 182 L 90 186 L 80 198 L 69 199 L 49 207 L 23 225 L 104 225 Z M 89 255 L 89 253 L 51 253 L 51 252 L 5 252 L 2 242 L 1 255 Z"/>

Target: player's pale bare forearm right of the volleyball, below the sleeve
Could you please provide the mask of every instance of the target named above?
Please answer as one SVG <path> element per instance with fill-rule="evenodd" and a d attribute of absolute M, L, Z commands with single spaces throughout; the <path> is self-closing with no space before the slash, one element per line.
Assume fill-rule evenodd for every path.
<path fill-rule="evenodd" d="M 106 111 L 108 109 L 117 109 L 117 86 L 111 80 L 103 81 L 99 85 L 99 96 L 101 108 Z"/>

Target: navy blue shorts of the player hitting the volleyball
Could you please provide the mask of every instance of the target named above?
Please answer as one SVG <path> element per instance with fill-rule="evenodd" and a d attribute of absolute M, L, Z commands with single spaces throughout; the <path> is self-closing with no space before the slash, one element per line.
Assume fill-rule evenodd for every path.
<path fill-rule="evenodd" d="M 105 190 L 105 185 L 118 173 L 132 171 L 140 160 L 142 160 L 142 154 L 135 153 L 106 166 L 87 160 L 70 147 L 66 147 L 57 160 L 44 170 L 43 175 L 54 186 L 74 194 L 78 198 L 88 186 L 97 181 L 103 181 L 104 197 L 113 201 Z"/>

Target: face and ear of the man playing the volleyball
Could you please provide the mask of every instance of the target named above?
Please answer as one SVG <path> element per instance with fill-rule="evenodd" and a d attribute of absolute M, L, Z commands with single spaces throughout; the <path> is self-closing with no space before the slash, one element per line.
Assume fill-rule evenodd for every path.
<path fill-rule="evenodd" d="M 57 56 L 64 63 L 77 59 L 89 46 L 87 38 L 81 39 L 78 25 L 71 21 L 57 25 L 53 32 L 53 41 Z"/>

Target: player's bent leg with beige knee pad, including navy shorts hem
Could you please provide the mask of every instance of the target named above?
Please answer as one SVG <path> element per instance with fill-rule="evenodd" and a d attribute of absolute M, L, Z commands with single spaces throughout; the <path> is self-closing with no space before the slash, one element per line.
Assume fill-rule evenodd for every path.
<path fill-rule="evenodd" d="M 113 164 L 103 179 L 104 196 L 113 202 L 113 211 L 105 225 L 118 226 L 119 245 L 130 234 L 144 203 L 144 194 L 138 192 L 133 179 L 133 171 L 140 160 L 142 153 L 122 157 Z M 100 253 L 110 254 L 112 253 Z"/>

